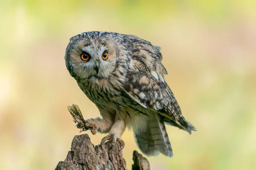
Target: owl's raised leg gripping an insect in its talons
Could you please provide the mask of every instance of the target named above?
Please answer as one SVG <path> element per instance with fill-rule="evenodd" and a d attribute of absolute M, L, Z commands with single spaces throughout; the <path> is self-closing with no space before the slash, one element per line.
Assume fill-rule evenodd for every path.
<path fill-rule="evenodd" d="M 87 119 L 84 121 L 87 130 L 91 130 L 91 133 L 95 135 L 99 133 L 108 133 L 113 125 L 112 122 L 97 117 L 96 119 Z"/>

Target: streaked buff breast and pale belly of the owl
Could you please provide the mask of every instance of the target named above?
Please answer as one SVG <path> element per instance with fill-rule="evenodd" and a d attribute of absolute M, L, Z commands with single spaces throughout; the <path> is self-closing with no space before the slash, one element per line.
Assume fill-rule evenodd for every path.
<path fill-rule="evenodd" d="M 147 127 L 148 109 L 131 99 L 122 89 L 106 90 L 97 85 L 83 86 L 82 84 L 79 84 L 79 87 L 99 109 L 103 109 L 106 113 L 118 111 L 125 118 L 128 128 L 140 132 Z"/>

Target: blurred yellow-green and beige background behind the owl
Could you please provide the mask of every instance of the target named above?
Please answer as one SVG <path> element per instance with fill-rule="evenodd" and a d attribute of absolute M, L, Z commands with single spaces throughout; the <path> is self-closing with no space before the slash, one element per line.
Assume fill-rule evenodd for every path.
<path fill-rule="evenodd" d="M 69 38 L 85 31 L 162 47 L 198 131 L 167 126 L 174 157 L 147 157 L 152 170 L 256 169 L 255 0 L 0 0 L 0 170 L 53 170 L 79 134 L 67 105 L 99 116 L 64 61 Z M 88 134 L 95 145 L 105 136 Z M 131 169 L 138 148 L 132 132 L 122 138 Z"/>

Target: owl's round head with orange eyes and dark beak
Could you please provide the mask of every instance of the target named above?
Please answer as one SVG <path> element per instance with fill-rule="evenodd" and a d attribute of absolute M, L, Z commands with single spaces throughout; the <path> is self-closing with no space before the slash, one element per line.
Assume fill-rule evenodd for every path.
<path fill-rule="evenodd" d="M 75 79 L 107 79 L 115 71 L 118 52 L 111 34 L 92 31 L 70 38 L 66 66 Z"/>

